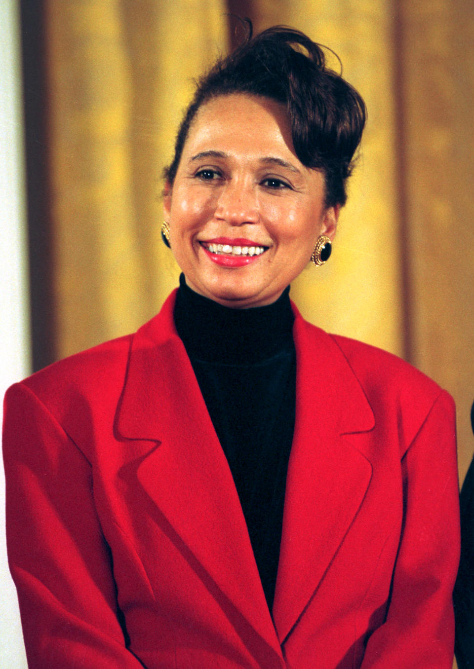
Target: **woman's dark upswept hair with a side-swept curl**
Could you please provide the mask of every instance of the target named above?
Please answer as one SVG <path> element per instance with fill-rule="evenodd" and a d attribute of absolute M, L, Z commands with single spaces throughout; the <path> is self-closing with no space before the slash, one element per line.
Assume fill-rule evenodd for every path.
<path fill-rule="evenodd" d="M 179 126 L 173 162 L 164 171 L 167 181 L 173 185 L 189 127 L 200 106 L 234 93 L 285 105 L 297 157 L 306 167 L 323 171 L 326 206 L 344 205 L 345 182 L 362 138 L 366 105 L 355 88 L 327 68 L 319 44 L 281 25 L 252 37 L 248 21 L 244 43 L 197 80 Z"/>

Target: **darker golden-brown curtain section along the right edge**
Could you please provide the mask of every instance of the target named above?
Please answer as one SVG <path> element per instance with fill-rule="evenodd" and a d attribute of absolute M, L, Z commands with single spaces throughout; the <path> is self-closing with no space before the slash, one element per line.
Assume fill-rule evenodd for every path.
<path fill-rule="evenodd" d="M 473 450 L 473 5 L 400 0 L 398 21 L 408 353 L 456 399 L 462 479 Z"/>

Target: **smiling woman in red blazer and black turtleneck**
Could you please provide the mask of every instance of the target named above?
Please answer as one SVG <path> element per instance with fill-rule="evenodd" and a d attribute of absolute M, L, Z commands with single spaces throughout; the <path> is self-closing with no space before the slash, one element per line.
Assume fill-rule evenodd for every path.
<path fill-rule="evenodd" d="M 302 33 L 218 62 L 166 174 L 179 290 L 7 393 L 31 666 L 451 668 L 453 401 L 289 302 L 364 121 Z"/>

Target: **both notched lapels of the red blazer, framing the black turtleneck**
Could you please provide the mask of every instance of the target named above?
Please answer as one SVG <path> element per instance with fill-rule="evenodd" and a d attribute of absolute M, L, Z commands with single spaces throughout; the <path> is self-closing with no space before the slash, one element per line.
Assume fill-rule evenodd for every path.
<path fill-rule="evenodd" d="M 297 411 L 273 624 L 232 474 L 175 330 L 174 302 L 175 292 L 133 337 L 116 429 L 159 442 L 139 466 L 139 483 L 278 666 L 279 642 L 315 593 L 370 482 L 364 449 L 343 435 L 372 429 L 374 415 L 335 341 L 293 305 Z"/>

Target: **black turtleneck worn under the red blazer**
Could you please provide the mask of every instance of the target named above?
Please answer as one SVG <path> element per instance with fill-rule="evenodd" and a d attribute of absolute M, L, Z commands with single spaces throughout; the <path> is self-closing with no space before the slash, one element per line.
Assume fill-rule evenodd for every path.
<path fill-rule="evenodd" d="M 232 309 L 188 288 L 175 324 L 228 460 L 271 611 L 295 427 L 289 287 L 273 304 Z"/>

